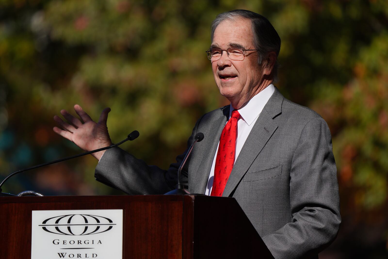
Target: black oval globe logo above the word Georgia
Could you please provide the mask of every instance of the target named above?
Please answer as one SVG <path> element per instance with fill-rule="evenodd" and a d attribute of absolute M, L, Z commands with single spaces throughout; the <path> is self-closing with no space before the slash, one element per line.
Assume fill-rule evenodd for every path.
<path fill-rule="evenodd" d="M 73 214 L 50 217 L 41 225 L 44 231 L 69 236 L 93 235 L 111 230 L 113 221 L 107 217 Z"/>

